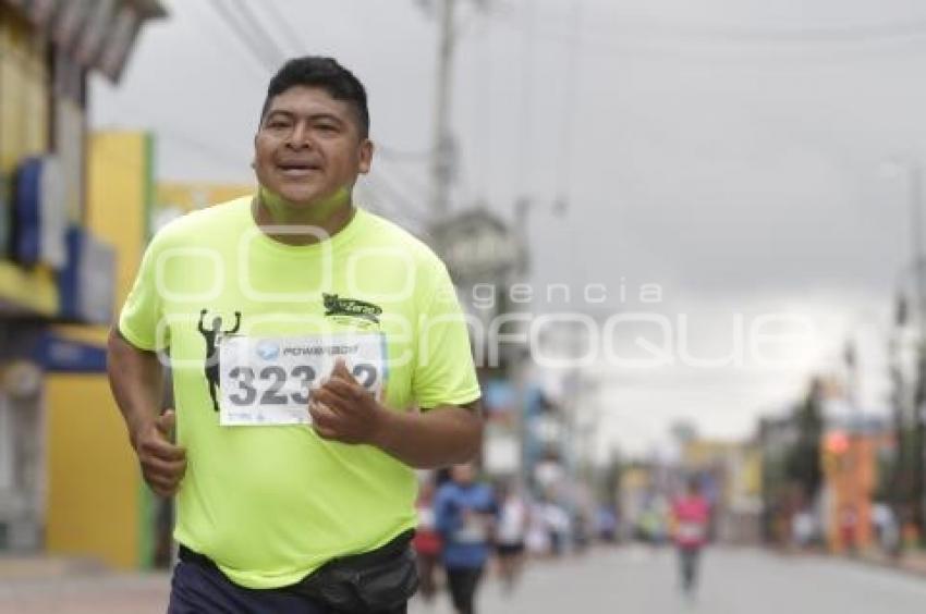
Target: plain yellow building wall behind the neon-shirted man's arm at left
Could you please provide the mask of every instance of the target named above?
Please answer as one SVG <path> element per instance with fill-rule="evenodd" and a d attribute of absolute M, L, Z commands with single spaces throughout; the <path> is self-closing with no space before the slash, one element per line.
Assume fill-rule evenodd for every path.
<path fill-rule="evenodd" d="M 151 189 L 144 133 L 89 139 L 86 225 L 117 250 L 114 312 L 141 261 Z M 59 327 L 64 336 L 103 344 L 106 327 Z M 150 495 L 112 401 L 106 374 L 48 378 L 49 552 L 98 556 L 119 567 L 147 562 Z"/>

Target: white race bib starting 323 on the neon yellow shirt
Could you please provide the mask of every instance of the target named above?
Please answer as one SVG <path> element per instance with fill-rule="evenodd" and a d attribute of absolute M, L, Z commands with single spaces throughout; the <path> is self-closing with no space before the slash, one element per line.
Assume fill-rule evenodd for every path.
<path fill-rule="evenodd" d="M 307 425 L 308 402 L 341 358 L 377 398 L 386 378 L 382 334 L 226 336 L 219 345 L 219 423 Z"/>

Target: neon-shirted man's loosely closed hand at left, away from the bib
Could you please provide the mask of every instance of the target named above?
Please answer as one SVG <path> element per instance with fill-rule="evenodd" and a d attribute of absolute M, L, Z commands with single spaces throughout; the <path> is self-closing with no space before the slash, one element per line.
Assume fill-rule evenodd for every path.
<path fill-rule="evenodd" d="M 155 493 L 172 496 L 186 472 L 186 451 L 171 443 L 176 416 L 168 409 L 132 438 L 142 475 Z"/>

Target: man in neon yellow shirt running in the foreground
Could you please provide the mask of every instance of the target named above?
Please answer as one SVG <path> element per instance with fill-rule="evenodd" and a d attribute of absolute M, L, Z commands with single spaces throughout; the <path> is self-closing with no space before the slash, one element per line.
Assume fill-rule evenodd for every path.
<path fill-rule="evenodd" d="M 406 612 L 414 468 L 479 449 L 446 267 L 354 202 L 373 157 L 361 82 L 291 60 L 259 113 L 255 194 L 148 246 L 109 377 L 145 481 L 176 496 L 170 614 Z M 216 343 L 204 309 L 235 314 L 236 334 Z M 159 416 L 165 364 L 176 405 Z"/>

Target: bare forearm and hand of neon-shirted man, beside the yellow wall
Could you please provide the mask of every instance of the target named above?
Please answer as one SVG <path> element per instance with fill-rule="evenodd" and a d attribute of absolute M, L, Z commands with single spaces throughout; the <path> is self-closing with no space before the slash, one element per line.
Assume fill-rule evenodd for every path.
<path fill-rule="evenodd" d="M 135 347 L 113 327 L 107 372 L 145 481 L 161 496 L 172 495 L 186 471 L 186 453 L 171 442 L 173 410 L 159 412 L 163 367 L 157 354 Z"/>

